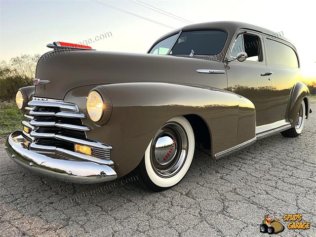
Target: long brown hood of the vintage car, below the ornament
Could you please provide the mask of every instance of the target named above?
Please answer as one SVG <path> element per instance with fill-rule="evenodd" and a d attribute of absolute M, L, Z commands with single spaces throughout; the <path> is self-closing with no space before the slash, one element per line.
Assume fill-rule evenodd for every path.
<path fill-rule="evenodd" d="M 34 96 L 63 100 L 68 91 L 79 86 L 125 82 L 197 84 L 196 79 L 201 79 L 198 84 L 223 87 L 223 79 L 221 83 L 212 83 L 210 75 L 198 74 L 197 69 L 225 70 L 223 63 L 197 58 L 54 50 L 38 62 L 36 78 L 49 82 L 36 85 Z"/>

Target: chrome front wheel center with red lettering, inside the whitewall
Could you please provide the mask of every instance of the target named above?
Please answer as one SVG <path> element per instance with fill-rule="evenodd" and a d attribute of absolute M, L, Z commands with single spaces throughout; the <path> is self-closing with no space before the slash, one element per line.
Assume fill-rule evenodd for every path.
<path fill-rule="evenodd" d="M 166 123 L 153 138 L 152 167 L 159 176 L 169 178 L 181 169 L 187 151 L 188 138 L 184 128 L 176 122 Z"/>

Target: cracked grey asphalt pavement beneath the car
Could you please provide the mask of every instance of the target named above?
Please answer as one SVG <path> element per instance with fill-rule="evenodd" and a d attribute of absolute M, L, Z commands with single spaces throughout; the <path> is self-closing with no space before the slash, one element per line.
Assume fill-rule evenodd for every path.
<path fill-rule="evenodd" d="M 285 226 L 276 236 L 316 236 L 316 104 L 297 138 L 280 134 L 219 160 L 196 150 L 176 187 L 144 190 L 137 174 L 78 185 L 42 178 L 14 163 L 0 141 L 0 237 L 264 237 L 265 214 Z M 302 214 L 308 230 L 289 230 Z"/>

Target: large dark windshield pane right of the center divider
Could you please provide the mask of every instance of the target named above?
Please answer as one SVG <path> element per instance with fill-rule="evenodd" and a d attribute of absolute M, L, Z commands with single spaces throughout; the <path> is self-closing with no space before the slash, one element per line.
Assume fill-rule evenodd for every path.
<path fill-rule="evenodd" d="M 182 32 L 170 54 L 216 55 L 226 42 L 227 33 L 219 30 Z"/>

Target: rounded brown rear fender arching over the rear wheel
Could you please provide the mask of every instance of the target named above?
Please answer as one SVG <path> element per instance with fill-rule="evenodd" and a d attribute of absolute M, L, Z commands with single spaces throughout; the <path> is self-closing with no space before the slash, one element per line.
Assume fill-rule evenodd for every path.
<path fill-rule="evenodd" d="M 296 125 L 297 121 L 297 112 L 299 111 L 299 106 L 303 99 L 306 98 L 305 106 L 306 106 L 306 118 L 308 118 L 309 111 L 310 111 L 310 90 L 307 85 L 303 82 L 297 82 L 291 90 L 290 98 L 286 110 L 286 118 L 292 124 L 292 127 Z"/>

